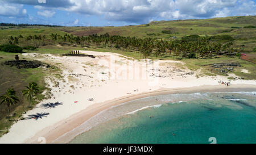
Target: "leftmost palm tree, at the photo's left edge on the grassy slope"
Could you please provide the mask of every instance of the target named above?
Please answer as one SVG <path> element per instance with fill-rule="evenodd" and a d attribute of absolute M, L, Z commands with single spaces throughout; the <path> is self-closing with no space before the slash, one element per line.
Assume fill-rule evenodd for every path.
<path fill-rule="evenodd" d="M 5 103 L 8 107 L 8 120 L 10 120 L 10 107 L 11 105 L 17 103 L 19 99 L 18 97 L 15 96 L 14 89 L 8 89 L 6 91 L 6 94 L 1 95 L 0 98 L 1 98 L 0 104 Z"/>

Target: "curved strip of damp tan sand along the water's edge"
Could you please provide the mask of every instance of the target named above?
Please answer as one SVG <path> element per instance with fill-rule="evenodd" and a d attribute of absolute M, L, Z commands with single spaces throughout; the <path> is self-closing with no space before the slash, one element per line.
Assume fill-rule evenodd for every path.
<path fill-rule="evenodd" d="M 84 110 L 71 115 L 67 119 L 63 119 L 50 127 L 42 129 L 36 133 L 32 138 L 26 140 L 25 143 L 39 143 L 39 137 L 45 137 L 46 143 L 68 143 L 75 137 L 69 137 L 68 132 L 79 127 L 93 116 L 99 114 L 104 110 L 108 110 L 113 106 L 130 102 L 135 99 L 142 99 L 145 97 L 167 95 L 167 94 L 188 94 L 188 93 L 213 93 L 213 92 L 239 92 L 239 91 L 256 91 L 256 85 L 237 84 L 231 86 L 224 85 L 203 85 L 196 87 L 182 87 L 175 89 L 161 88 L 154 91 L 146 91 L 139 94 L 133 94 L 125 97 L 115 98 L 106 102 L 96 103 L 88 106 Z"/>

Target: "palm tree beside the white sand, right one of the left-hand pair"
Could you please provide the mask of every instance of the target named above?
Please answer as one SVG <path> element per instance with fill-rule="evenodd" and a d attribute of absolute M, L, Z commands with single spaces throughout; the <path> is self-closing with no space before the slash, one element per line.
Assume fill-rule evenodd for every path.
<path fill-rule="evenodd" d="M 23 96 L 26 95 L 27 99 L 29 100 L 29 102 L 31 104 L 31 99 L 33 97 L 35 97 L 35 95 L 39 92 L 38 83 L 30 82 L 29 86 L 24 86 L 24 87 L 26 87 L 27 89 L 22 90 Z"/>

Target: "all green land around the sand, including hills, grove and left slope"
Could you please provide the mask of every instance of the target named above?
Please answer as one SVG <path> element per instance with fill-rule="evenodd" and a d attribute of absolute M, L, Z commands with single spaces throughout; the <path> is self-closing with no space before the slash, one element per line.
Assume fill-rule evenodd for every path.
<path fill-rule="evenodd" d="M 135 59 L 152 58 L 161 60 L 179 59 L 187 68 L 201 69 L 206 75 L 221 74 L 209 68 L 218 62 L 237 62 L 249 73 L 241 72 L 241 67 L 232 73 L 244 79 L 255 79 L 255 64 L 241 60 L 241 53 L 256 52 L 256 16 L 232 16 L 227 18 L 200 20 L 153 21 L 138 26 L 123 27 L 55 27 L 26 24 L 0 24 L 0 63 L 13 60 L 18 47 L 24 52 L 63 54 L 71 50 L 114 52 Z M 14 49 L 5 47 L 15 47 Z M 20 50 L 20 49 L 19 49 Z M 9 51 L 9 52 L 1 52 Z M 22 51 L 22 52 L 23 52 Z M 19 52 L 18 52 L 19 53 Z M 249 56 L 249 55 L 247 55 Z M 20 60 L 24 57 L 18 56 Z M 249 57 L 255 61 L 255 57 Z M 54 72 L 52 69 L 47 72 Z M 210 73 L 209 73 L 210 72 Z M 42 68 L 16 69 L 7 65 L 0 67 L 0 94 L 9 87 L 15 87 L 19 104 L 10 111 L 19 117 L 30 106 L 43 99 L 46 87 Z M 224 75 L 224 74 L 221 74 Z M 225 75 L 224 75 L 225 76 Z M 230 77 L 231 78 L 231 77 Z M 23 83 L 38 83 L 39 92 L 25 93 Z M 11 84 L 10 84 L 11 83 Z M 26 87 L 30 91 L 31 85 Z M 32 91 L 31 91 L 32 92 Z M 35 96 L 36 95 L 36 96 Z M 12 123 L 3 119 L 7 115 L 4 105 L 0 105 L 0 130 Z M 3 133 L 3 132 L 2 132 Z M 1 133 L 1 134 L 2 134 Z M 1 135 L 0 134 L 0 135 Z"/>

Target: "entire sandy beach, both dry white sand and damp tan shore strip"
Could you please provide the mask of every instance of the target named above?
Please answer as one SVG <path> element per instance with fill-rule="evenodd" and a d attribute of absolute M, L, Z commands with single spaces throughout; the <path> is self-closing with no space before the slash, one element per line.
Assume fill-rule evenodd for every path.
<path fill-rule="evenodd" d="M 25 53 L 25 57 L 60 68 L 60 78 L 49 73 L 46 78 L 51 98 L 40 102 L 24 114 L 46 113 L 35 119 L 15 123 L 0 143 L 66 143 L 73 137 L 67 133 L 99 112 L 130 100 L 162 94 L 255 91 L 255 80 L 230 81 L 224 76 L 198 77 L 200 70 L 184 68 L 184 63 L 171 60 L 133 60 L 115 53 L 80 51 L 91 57 L 67 57 Z M 231 75 L 230 75 L 231 76 Z M 235 77 L 232 74 L 233 77 Z M 231 82 L 225 86 L 218 81 Z M 45 92 L 47 93 L 47 92 Z M 91 100 L 89 100 L 91 99 Z M 55 108 L 44 103 L 60 102 Z M 66 133 L 66 134 L 65 134 Z M 63 136 L 64 135 L 64 136 Z"/>

